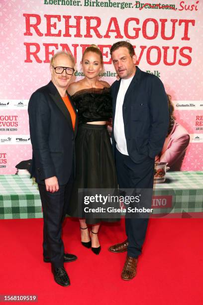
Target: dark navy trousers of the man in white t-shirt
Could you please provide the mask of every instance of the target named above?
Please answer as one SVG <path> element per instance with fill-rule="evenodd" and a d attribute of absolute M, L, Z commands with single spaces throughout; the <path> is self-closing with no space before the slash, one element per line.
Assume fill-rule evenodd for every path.
<path fill-rule="evenodd" d="M 154 159 L 147 157 L 142 163 L 137 164 L 128 155 L 124 155 L 116 149 L 115 165 L 119 188 L 153 189 Z M 149 207 L 151 207 L 151 199 L 150 195 L 148 197 Z M 125 217 L 125 230 L 129 242 L 128 256 L 138 257 L 141 254 L 148 220 L 149 218 Z"/>

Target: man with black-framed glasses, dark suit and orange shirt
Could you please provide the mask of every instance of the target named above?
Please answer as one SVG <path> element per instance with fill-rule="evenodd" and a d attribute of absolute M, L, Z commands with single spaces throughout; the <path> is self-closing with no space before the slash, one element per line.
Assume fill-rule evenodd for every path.
<path fill-rule="evenodd" d="M 64 262 L 77 259 L 64 253 L 61 239 L 75 172 L 77 112 L 66 91 L 74 65 L 70 53 L 56 53 L 50 63 L 51 81 L 36 90 L 28 104 L 31 175 L 38 183 L 44 218 L 43 257 L 62 286 L 70 285 Z"/>

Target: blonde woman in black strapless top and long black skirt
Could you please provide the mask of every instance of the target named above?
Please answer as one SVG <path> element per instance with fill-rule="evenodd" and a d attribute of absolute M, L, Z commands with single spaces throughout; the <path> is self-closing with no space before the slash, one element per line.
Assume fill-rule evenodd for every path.
<path fill-rule="evenodd" d="M 98 232 L 101 220 L 109 222 L 118 219 L 101 219 L 91 216 L 81 219 L 84 202 L 78 200 L 78 189 L 117 189 L 112 148 L 106 129 L 106 121 L 112 117 L 112 100 L 109 84 L 98 80 L 99 73 L 103 69 L 100 49 L 95 45 L 88 47 L 83 54 L 81 64 L 85 77 L 72 83 L 68 88 L 79 117 L 76 138 L 76 180 L 68 214 L 80 218 L 82 244 L 87 248 L 92 246 L 92 251 L 99 254 L 101 246 Z M 92 225 L 91 235 L 89 235 L 87 224 Z"/>

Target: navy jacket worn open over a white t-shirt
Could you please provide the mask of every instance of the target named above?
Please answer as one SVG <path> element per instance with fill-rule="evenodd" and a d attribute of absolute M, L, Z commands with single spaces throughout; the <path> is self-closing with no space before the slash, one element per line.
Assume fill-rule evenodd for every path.
<path fill-rule="evenodd" d="M 111 86 L 112 128 L 120 81 L 115 81 Z M 122 113 L 130 158 L 135 163 L 141 163 L 147 156 L 154 158 L 159 154 L 169 127 L 168 100 L 161 80 L 136 67 L 136 73 L 125 94 Z M 115 150 L 113 135 L 112 145 Z"/>

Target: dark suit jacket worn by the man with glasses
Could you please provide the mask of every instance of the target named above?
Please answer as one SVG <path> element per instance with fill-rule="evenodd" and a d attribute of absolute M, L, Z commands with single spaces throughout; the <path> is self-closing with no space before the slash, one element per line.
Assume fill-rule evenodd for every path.
<path fill-rule="evenodd" d="M 69 96 L 71 101 L 71 97 Z M 32 143 L 31 175 L 37 183 L 56 176 L 64 185 L 68 182 L 75 164 L 76 126 L 73 130 L 71 116 L 52 81 L 39 88 L 28 104 L 30 139 Z M 75 167 L 75 165 L 74 165 Z"/>

